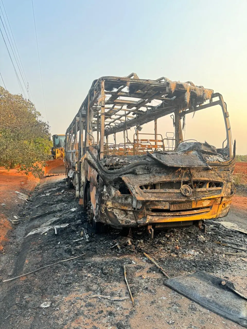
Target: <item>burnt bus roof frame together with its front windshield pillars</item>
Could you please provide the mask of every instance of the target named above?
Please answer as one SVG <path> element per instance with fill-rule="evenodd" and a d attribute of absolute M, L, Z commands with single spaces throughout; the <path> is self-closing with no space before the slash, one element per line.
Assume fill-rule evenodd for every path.
<path fill-rule="evenodd" d="M 218 98 L 214 100 L 214 98 Z M 152 101 L 158 104 L 153 106 Z M 66 133 L 75 129 L 78 119 L 86 121 L 86 146 L 92 145 L 92 133 L 104 136 L 123 132 L 168 114 L 175 114 L 175 138 L 182 141 L 180 119 L 192 112 L 220 105 L 226 126 L 229 156 L 232 154 L 231 127 L 226 103 L 219 93 L 192 82 L 181 83 L 165 77 L 156 80 L 139 79 L 136 73 L 127 77 L 104 76 L 94 80 L 88 95 Z M 103 139 L 100 138 L 101 144 Z M 101 149 L 102 147 L 100 147 Z"/>

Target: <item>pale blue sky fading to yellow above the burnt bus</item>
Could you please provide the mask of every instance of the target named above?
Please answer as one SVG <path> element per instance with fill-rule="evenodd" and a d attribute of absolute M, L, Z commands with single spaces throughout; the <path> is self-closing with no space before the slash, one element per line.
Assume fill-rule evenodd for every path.
<path fill-rule="evenodd" d="M 93 80 L 136 72 L 221 93 L 236 153 L 247 154 L 246 0 L 33 0 L 46 112 L 32 1 L 3 3 L 34 103 L 44 120 L 47 112 L 52 134 L 65 133 Z M 0 72 L 6 88 L 20 93 L 1 35 Z M 219 106 L 187 116 L 185 139 L 221 147 L 226 133 Z M 158 119 L 163 138 L 171 122 Z M 153 132 L 153 125 L 143 131 Z"/>

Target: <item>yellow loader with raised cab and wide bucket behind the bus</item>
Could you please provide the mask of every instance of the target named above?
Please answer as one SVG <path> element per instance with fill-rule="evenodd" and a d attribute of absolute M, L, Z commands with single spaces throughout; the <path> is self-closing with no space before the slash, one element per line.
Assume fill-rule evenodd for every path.
<path fill-rule="evenodd" d="M 64 141 L 65 135 L 52 135 L 52 160 L 46 161 L 44 176 L 65 175 Z"/>

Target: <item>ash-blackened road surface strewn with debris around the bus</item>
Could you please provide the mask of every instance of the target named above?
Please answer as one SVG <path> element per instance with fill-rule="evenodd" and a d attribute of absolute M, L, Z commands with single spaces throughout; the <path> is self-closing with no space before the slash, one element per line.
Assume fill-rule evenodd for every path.
<path fill-rule="evenodd" d="M 246 197 L 241 198 L 242 203 L 246 202 Z M 233 220 L 234 215 L 245 225 L 246 204 L 242 204 L 241 212 L 237 210 L 238 203 L 239 200 L 224 220 Z M 72 208 L 77 210 L 73 212 Z M 23 220 L 10 232 L 10 241 L 0 255 L 1 328 L 242 328 L 166 287 L 165 277 L 142 251 L 152 253 L 151 257 L 171 277 L 203 270 L 232 281 L 237 290 L 247 295 L 247 259 L 225 256 L 223 251 L 237 250 L 212 242 L 225 239 L 246 248 L 245 234 L 226 229 L 214 221 L 207 222 L 207 233 L 203 234 L 205 242 L 197 241 L 201 233 L 195 227 L 157 231 L 153 240 L 144 229 L 132 230 L 130 248 L 138 252 L 122 247 L 119 250 L 117 246 L 112 247 L 113 240 L 124 243 L 129 239 L 128 232 L 112 230 L 94 235 L 87 226 L 86 212 L 79 208 L 74 190 L 66 187 L 63 176 L 43 179 L 32 201 L 27 202 L 19 215 Z M 57 234 L 51 229 L 42 235 L 25 237 L 49 222 L 56 226 L 69 225 L 57 228 Z M 2 282 L 83 253 L 85 255 L 80 258 Z M 92 294 L 129 297 L 124 264 L 135 307 L 130 298 L 121 301 L 90 298 Z M 42 308 L 44 305 L 47 307 Z"/>

